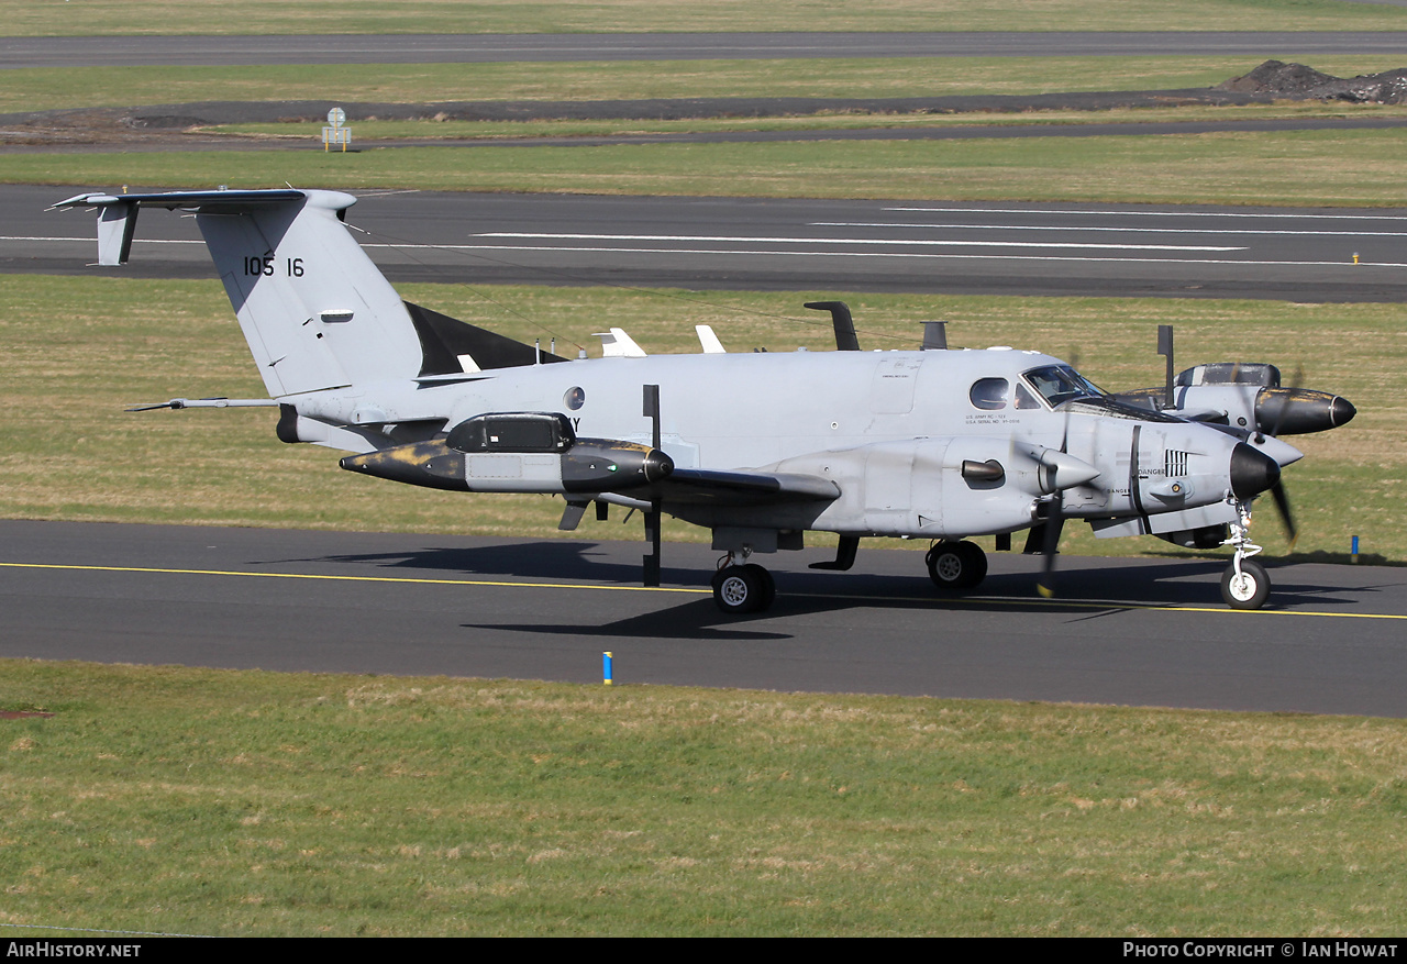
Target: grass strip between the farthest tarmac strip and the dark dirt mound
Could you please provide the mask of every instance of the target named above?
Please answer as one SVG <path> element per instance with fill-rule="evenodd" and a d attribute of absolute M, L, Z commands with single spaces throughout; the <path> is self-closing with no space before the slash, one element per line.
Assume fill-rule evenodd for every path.
<path fill-rule="evenodd" d="M 257 68 L 28 68 L 4 72 L 0 111 L 204 100 L 633 100 L 653 97 L 937 97 L 1211 87 L 1268 56 L 625 61 Z M 1390 58 L 1313 58 L 1339 76 Z"/>

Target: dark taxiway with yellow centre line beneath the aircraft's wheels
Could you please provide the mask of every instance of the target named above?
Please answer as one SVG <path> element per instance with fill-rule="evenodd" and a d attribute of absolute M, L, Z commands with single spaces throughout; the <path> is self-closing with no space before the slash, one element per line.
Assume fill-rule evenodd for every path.
<path fill-rule="evenodd" d="M 784 691 L 1407 716 L 1407 569 L 1269 560 L 1261 612 L 1225 609 L 1224 560 L 992 554 L 968 600 L 917 552 L 763 562 L 779 597 L 729 619 L 716 553 L 643 543 L 0 522 L 0 656 Z"/>

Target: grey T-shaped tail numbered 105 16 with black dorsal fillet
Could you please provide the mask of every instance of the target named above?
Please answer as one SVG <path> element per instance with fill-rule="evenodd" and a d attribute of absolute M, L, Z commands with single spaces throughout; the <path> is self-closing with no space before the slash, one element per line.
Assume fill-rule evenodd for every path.
<path fill-rule="evenodd" d="M 142 207 L 194 213 L 273 398 L 560 360 L 401 301 L 340 224 L 355 203 L 290 189 L 80 194 L 55 207 L 98 208 L 101 265 L 127 262 Z"/>

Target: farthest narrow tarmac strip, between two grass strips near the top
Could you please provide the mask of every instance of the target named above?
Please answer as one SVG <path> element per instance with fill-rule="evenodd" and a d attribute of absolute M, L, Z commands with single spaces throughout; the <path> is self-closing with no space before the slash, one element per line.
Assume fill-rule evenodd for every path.
<path fill-rule="evenodd" d="M 912 56 L 1396 56 L 1403 31 L 982 31 L 6 37 L 0 69 Z"/>

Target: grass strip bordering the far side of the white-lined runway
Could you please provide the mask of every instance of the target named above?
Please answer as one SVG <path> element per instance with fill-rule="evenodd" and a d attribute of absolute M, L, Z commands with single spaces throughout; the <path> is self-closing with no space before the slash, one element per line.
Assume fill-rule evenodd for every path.
<path fill-rule="evenodd" d="M 428 146 L 362 153 L 0 155 L 0 180 L 163 187 L 424 189 L 1393 205 L 1403 131 L 812 144 Z"/>

